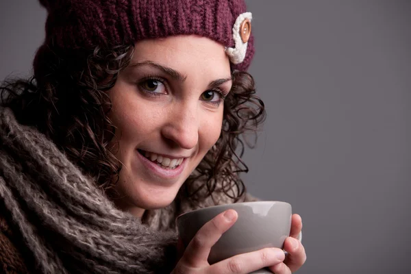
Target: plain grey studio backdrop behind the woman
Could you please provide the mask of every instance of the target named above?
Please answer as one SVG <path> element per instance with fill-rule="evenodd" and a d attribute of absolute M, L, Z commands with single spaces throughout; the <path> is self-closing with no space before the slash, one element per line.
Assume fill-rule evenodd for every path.
<path fill-rule="evenodd" d="M 298 273 L 411 273 L 411 1 L 247 1 L 267 119 L 247 187 L 303 218 Z M 0 79 L 27 75 L 37 1 L 0 3 Z"/>

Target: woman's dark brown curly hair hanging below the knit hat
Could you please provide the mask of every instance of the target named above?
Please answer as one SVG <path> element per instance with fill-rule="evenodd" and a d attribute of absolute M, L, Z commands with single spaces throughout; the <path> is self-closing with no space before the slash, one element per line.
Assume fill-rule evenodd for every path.
<path fill-rule="evenodd" d="M 0 86 L 1 105 L 12 108 L 20 123 L 45 134 L 86 175 L 108 190 L 119 180 L 121 163 L 110 145 L 116 128 L 108 119 L 112 105 L 107 91 L 133 53 L 134 45 L 96 47 L 92 51 L 42 45 L 32 77 L 7 79 Z M 255 95 L 253 77 L 234 70 L 232 77 L 232 90 L 224 100 L 221 136 L 183 185 L 188 197 L 200 190 L 190 188 L 200 178 L 207 182 L 201 188 L 206 187 L 207 195 L 212 195 L 217 177 L 224 182 L 226 195 L 235 201 L 245 197 L 245 185 L 238 176 L 248 171 L 240 159 L 245 147 L 241 136 L 245 132 L 256 134 L 265 110 Z M 227 190 L 234 186 L 237 193 L 232 196 Z"/>

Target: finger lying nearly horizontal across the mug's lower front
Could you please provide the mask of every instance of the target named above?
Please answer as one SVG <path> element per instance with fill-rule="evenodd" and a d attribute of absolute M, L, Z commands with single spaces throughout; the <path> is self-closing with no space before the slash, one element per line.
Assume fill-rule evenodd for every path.
<path fill-rule="evenodd" d="M 283 262 L 284 251 L 277 248 L 265 248 L 249 253 L 242 253 L 221 262 L 213 264 L 210 273 L 221 274 L 247 274 L 264 267 Z"/>

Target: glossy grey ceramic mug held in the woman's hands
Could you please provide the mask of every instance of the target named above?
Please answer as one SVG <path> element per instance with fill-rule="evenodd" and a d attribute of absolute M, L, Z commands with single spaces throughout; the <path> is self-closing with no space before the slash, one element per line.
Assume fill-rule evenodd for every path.
<path fill-rule="evenodd" d="M 177 229 L 184 246 L 208 221 L 225 210 L 233 209 L 238 219 L 221 236 L 210 251 L 208 262 L 214 264 L 240 253 L 257 251 L 266 247 L 283 249 L 290 235 L 292 208 L 284 201 L 253 201 L 211 206 L 179 215 Z M 271 273 L 261 269 L 257 273 Z"/>

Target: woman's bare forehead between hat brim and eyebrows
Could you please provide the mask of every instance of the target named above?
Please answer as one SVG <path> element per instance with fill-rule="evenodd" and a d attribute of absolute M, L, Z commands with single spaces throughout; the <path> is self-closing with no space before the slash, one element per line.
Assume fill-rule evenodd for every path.
<path fill-rule="evenodd" d="M 200 36 L 169 36 L 136 43 L 132 62 L 153 61 L 190 75 L 229 75 L 229 58 L 224 46 Z"/>

